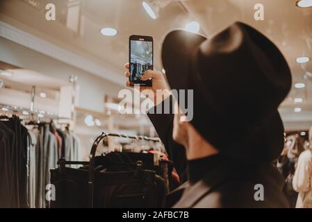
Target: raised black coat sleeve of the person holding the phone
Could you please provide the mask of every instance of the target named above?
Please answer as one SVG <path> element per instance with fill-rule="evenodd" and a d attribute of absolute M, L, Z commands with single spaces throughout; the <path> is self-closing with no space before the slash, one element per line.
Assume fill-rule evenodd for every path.
<path fill-rule="evenodd" d="M 172 96 L 168 97 L 166 100 L 170 100 L 170 104 L 172 103 Z M 162 106 L 164 105 L 165 101 L 163 103 L 158 104 Z M 170 108 L 172 109 L 173 106 Z M 154 109 L 154 108 L 151 108 Z M 181 182 L 186 182 L 188 180 L 187 178 L 187 171 L 186 171 L 186 150 L 183 146 L 180 144 L 177 144 L 172 139 L 172 130 L 173 130 L 173 119 L 174 114 L 173 112 L 170 112 L 170 114 L 156 114 L 156 109 L 154 109 L 154 114 L 151 114 L 151 110 L 147 112 L 147 116 L 149 117 L 149 120 L 151 123 L 153 123 L 154 128 L 156 129 L 156 132 L 158 133 L 158 136 L 161 138 L 161 142 L 165 145 L 165 149 L 170 156 L 170 159 L 174 162 L 174 168 L 176 169 L 177 173 L 179 174 L 179 178 Z"/>

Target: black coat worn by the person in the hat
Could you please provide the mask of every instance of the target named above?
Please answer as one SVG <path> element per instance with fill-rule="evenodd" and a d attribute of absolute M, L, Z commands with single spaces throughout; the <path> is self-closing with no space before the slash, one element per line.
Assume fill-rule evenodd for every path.
<path fill-rule="evenodd" d="M 288 207 L 282 192 L 284 180 L 270 163 L 253 166 L 227 159 L 206 173 L 202 180 L 190 185 L 187 182 L 186 151 L 172 139 L 174 115 L 148 116 L 174 162 L 181 182 L 184 182 L 167 196 L 166 207 Z M 263 201 L 254 199 L 257 184 L 263 185 Z"/>

